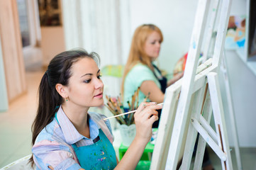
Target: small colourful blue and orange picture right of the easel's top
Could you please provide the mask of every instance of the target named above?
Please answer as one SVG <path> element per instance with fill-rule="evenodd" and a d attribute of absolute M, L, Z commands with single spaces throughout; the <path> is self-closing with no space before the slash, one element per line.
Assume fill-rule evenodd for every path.
<path fill-rule="evenodd" d="M 226 50 L 245 47 L 245 16 L 230 16 L 226 35 Z"/>

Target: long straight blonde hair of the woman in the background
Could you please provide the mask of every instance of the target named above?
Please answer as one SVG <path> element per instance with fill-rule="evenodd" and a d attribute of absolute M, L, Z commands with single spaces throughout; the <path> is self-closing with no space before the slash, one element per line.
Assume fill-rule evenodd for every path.
<path fill-rule="evenodd" d="M 128 72 L 130 72 L 130 69 L 132 69 L 135 64 L 140 62 L 142 64 L 147 65 L 152 70 L 152 72 L 154 71 L 151 64 L 150 57 L 145 53 L 145 50 L 144 50 L 145 42 L 148 36 L 154 31 L 160 34 L 160 38 L 161 38 L 160 42 L 162 42 L 163 41 L 162 32 L 160 28 L 158 28 L 153 24 L 143 24 L 142 26 L 139 26 L 138 28 L 136 28 L 133 34 L 133 40 L 130 45 L 129 57 L 123 72 L 123 80 L 121 84 L 122 96 L 123 96 L 124 81 L 126 79 L 126 76 Z"/>

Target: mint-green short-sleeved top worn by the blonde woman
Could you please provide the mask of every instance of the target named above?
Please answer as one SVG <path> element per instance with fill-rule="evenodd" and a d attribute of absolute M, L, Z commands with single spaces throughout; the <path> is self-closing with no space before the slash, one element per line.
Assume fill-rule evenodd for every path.
<path fill-rule="evenodd" d="M 123 90 L 123 106 L 128 108 L 127 101 L 130 101 L 134 94 L 134 91 L 138 89 L 139 86 L 143 83 L 143 81 L 152 80 L 157 84 L 157 86 L 161 89 L 160 82 L 155 77 L 154 73 L 151 69 L 145 64 L 135 64 L 133 69 L 130 69 L 128 72 L 126 79 L 124 81 L 124 90 Z M 139 103 L 140 104 L 145 98 L 145 94 L 139 91 Z M 148 99 L 148 101 L 150 101 Z M 137 103 L 137 102 L 136 102 Z"/>

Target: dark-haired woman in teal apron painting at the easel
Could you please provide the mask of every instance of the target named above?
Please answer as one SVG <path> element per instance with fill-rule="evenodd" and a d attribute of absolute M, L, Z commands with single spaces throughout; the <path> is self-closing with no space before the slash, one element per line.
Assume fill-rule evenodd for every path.
<path fill-rule="evenodd" d="M 113 149 L 111 126 L 104 115 L 88 113 L 104 103 L 104 84 L 96 53 L 70 50 L 55 56 L 39 86 L 33 123 L 37 169 L 135 169 L 158 119 L 156 103 L 142 103 L 135 113 L 136 137 L 121 162 Z"/>

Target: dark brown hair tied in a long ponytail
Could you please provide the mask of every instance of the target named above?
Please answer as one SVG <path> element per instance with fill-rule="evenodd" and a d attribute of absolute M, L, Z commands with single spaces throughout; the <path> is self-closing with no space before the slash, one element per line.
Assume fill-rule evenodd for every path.
<path fill-rule="evenodd" d="M 84 49 L 74 49 L 61 52 L 56 55 L 48 65 L 48 70 L 43 75 L 38 89 L 38 111 L 32 124 L 32 145 L 38 134 L 48 125 L 57 111 L 58 106 L 64 101 L 62 96 L 55 89 L 56 84 L 67 86 L 69 78 L 72 76 L 72 65 L 79 59 L 89 57 L 96 64 L 99 64 L 99 55 L 96 52 L 88 54 Z M 34 166 L 33 154 L 29 160 L 31 166 Z"/>

